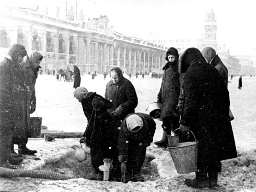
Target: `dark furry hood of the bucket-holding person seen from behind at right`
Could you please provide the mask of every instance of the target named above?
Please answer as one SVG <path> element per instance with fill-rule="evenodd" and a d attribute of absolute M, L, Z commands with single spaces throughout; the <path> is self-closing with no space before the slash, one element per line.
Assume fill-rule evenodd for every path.
<path fill-rule="evenodd" d="M 178 71 L 179 73 L 186 73 L 189 66 L 193 62 L 200 62 L 204 61 L 205 59 L 202 55 L 202 53 L 197 48 L 188 48 L 186 51 L 184 51 L 179 58 L 178 62 Z"/>

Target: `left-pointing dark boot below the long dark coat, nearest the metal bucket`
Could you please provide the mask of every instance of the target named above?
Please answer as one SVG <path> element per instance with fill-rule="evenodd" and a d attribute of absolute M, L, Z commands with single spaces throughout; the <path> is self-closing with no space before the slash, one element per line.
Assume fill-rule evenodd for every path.
<path fill-rule="evenodd" d="M 206 171 L 195 172 L 195 179 L 185 179 L 186 186 L 193 187 L 196 189 L 204 189 L 209 187 L 209 180 L 207 178 Z"/>

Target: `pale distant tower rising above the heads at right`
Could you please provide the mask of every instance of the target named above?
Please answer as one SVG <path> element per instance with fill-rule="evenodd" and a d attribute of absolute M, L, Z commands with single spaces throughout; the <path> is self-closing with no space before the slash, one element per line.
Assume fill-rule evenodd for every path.
<path fill-rule="evenodd" d="M 217 21 L 215 20 L 215 13 L 211 10 L 210 13 L 206 14 L 204 20 L 203 48 L 212 47 L 215 50 L 217 49 L 216 32 Z"/>

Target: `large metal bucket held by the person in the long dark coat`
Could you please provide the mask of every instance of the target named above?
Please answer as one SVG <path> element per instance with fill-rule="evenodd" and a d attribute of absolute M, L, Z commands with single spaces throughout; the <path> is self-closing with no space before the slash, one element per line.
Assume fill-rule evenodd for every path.
<path fill-rule="evenodd" d="M 192 131 L 190 131 L 192 133 Z M 192 133 L 193 134 L 193 133 Z M 193 134 L 194 138 L 195 135 Z M 174 143 L 168 146 L 178 173 L 195 172 L 197 169 L 198 141 Z"/>

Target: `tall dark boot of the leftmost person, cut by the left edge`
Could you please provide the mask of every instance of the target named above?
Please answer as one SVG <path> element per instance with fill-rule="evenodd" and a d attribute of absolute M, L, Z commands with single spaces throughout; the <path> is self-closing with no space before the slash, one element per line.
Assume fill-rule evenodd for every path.
<path fill-rule="evenodd" d="M 0 167 L 8 169 L 17 169 L 16 166 L 12 166 L 9 163 L 9 157 L 11 156 L 10 140 L 12 140 L 12 135 L 0 135 Z"/>

